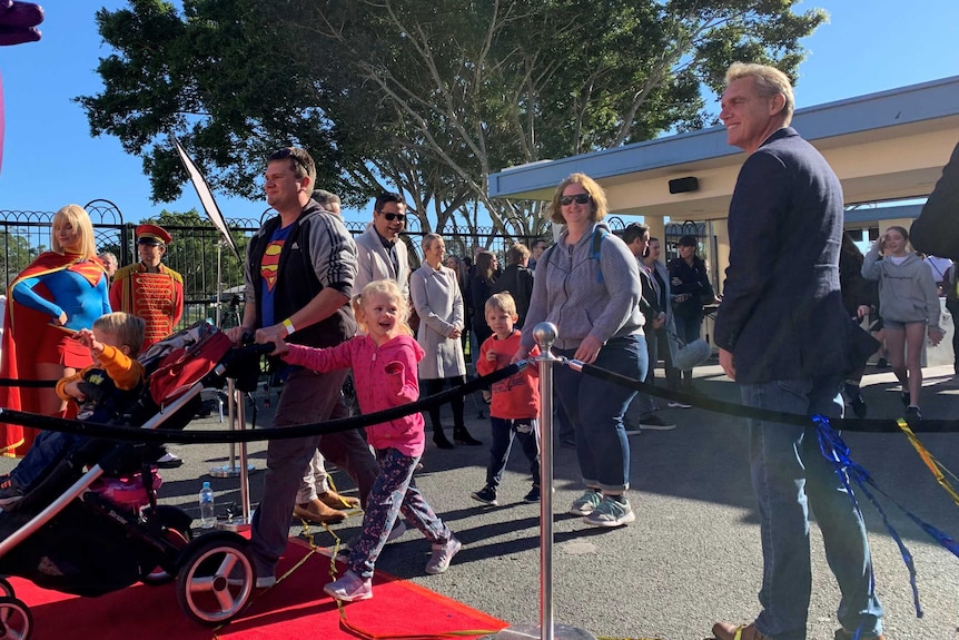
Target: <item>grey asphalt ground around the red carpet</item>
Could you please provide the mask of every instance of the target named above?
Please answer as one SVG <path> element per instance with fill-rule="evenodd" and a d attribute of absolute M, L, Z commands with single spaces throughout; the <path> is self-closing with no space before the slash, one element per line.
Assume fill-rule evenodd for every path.
<path fill-rule="evenodd" d="M 738 390 L 715 365 L 696 368 L 696 387 L 710 397 L 735 402 Z M 927 419 L 959 414 L 959 381 L 952 367 L 925 370 L 922 412 Z M 901 413 L 899 386 L 889 372 L 867 370 L 863 395 L 869 417 L 894 419 Z M 263 391 L 255 395 L 257 422 L 269 424 Z M 276 392 L 270 395 L 276 404 Z M 665 404 L 665 403 L 663 403 Z M 467 426 L 490 442 L 482 401 L 467 398 Z M 482 412 L 482 416 L 481 416 Z M 248 414 L 250 412 L 248 411 Z M 663 410 L 678 423 L 674 431 L 649 431 L 630 439 L 632 445 L 629 496 L 636 521 L 617 529 L 584 524 L 565 510 L 582 490 L 575 452 L 555 446 L 553 609 L 557 623 L 607 638 L 686 640 L 710 638 L 716 620 L 751 621 L 759 611 L 762 555 L 759 524 L 747 460 L 748 439 L 740 417 L 700 408 Z M 248 419 L 250 416 L 248 415 Z M 428 422 L 428 421 L 427 421 Z M 447 422 L 447 425 L 452 421 Z M 227 429 L 216 415 L 198 419 L 188 429 Z M 959 505 L 940 488 L 901 434 L 847 433 L 852 456 L 872 473 L 892 500 L 916 515 L 959 538 Z M 920 434 L 922 442 L 948 469 L 959 473 L 959 434 Z M 177 504 L 198 518 L 197 493 L 210 481 L 217 511 L 239 501 L 235 477 L 210 477 L 208 471 L 227 464 L 226 444 L 172 445 L 185 464 L 164 470 L 161 502 Z M 264 482 L 265 444 L 249 445 L 250 494 L 259 500 Z M 437 450 L 428 444 L 416 482 L 439 515 L 464 542 L 451 569 L 442 575 L 423 571 L 429 544 L 408 531 L 387 545 L 377 570 L 411 580 L 513 624 L 540 619 L 540 506 L 522 502 L 530 488 L 526 462 L 514 451 L 500 492 L 501 506 L 484 506 L 469 498 L 483 486 L 487 446 Z M 0 471 L 14 464 L 0 460 Z M 334 471 L 345 493 L 355 493 L 349 479 Z M 959 482 L 952 479 L 953 486 Z M 876 492 L 873 492 L 876 493 Z M 925 617 L 918 619 L 907 569 L 882 518 L 861 496 L 877 574 L 877 590 L 886 607 L 886 637 L 909 640 L 959 640 L 959 558 L 933 542 L 886 498 L 890 522 L 912 552 Z M 290 521 L 290 534 L 303 526 Z M 350 515 L 329 531 L 312 528 L 318 544 L 333 545 L 358 531 L 362 515 Z M 839 591 L 812 524 L 813 593 L 810 640 L 830 640 Z M 317 575 L 317 589 L 324 577 Z M 278 588 L 281 588 L 281 583 Z"/>

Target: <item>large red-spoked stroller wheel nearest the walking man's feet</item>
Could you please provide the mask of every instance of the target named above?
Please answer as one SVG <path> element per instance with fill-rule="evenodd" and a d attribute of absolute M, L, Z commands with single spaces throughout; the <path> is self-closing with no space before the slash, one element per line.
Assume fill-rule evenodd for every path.
<path fill-rule="evenodd" d="M 181 558 L 177 601 L 187 616 L 216 627 L 243 611 L 256 582 L 246 540 L 234 533 L 204 535 Z"/>

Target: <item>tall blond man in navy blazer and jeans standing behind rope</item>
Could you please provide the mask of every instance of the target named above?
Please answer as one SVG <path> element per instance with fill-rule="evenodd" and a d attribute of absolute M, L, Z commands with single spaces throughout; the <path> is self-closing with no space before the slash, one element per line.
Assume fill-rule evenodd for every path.
<path fill-rule="evenodd" d="M 749 154 L 730 204 L 730 256 L 714 337 L 743 404 L 840 416 L 848 331 L 839 289 L 842 187 L 825 159 L 789 127 L 793 93 L 778 69 L 734 63 L 720 118 Z M 838 640 L 882 638 L 862 516 L 805 426 L 749 420 L 762 532 L 762 611 L 719 640 L 804 640 L 811 591 L 809 510 L 842 592 Z"/>

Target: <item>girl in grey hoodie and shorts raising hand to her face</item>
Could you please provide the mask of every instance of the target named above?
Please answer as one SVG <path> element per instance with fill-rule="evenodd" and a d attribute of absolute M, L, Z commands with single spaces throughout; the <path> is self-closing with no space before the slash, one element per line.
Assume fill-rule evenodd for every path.
<path fill-rule="evenodd" d="M 892 373 L 902 384 L 906 417 L 922 420 L 922 341 L 928 332 L 932 344 L 939 344 L 943 333 L 939 328 L 939 294 L 932 272 L 907 249 L 908 243 L 909 232 L 904 228 L 886 229 L 866 254 L 862 277 L 879 280 L 879 313 Z"/>

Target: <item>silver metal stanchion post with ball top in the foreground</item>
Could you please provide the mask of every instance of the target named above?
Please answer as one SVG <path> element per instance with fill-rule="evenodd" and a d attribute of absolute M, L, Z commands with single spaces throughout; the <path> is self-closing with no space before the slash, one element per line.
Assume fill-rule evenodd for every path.
<path fill-rule="evenodd" d="M 496 640 L 596 640 L 576 627 L 553 621 L 553 355 L 556 327 L 540 323 L 533 328 L 540 345 L 540 624 L 517 624 L 496 633 Z M 530 366 L 533 366 L 531 363 Z"/>

